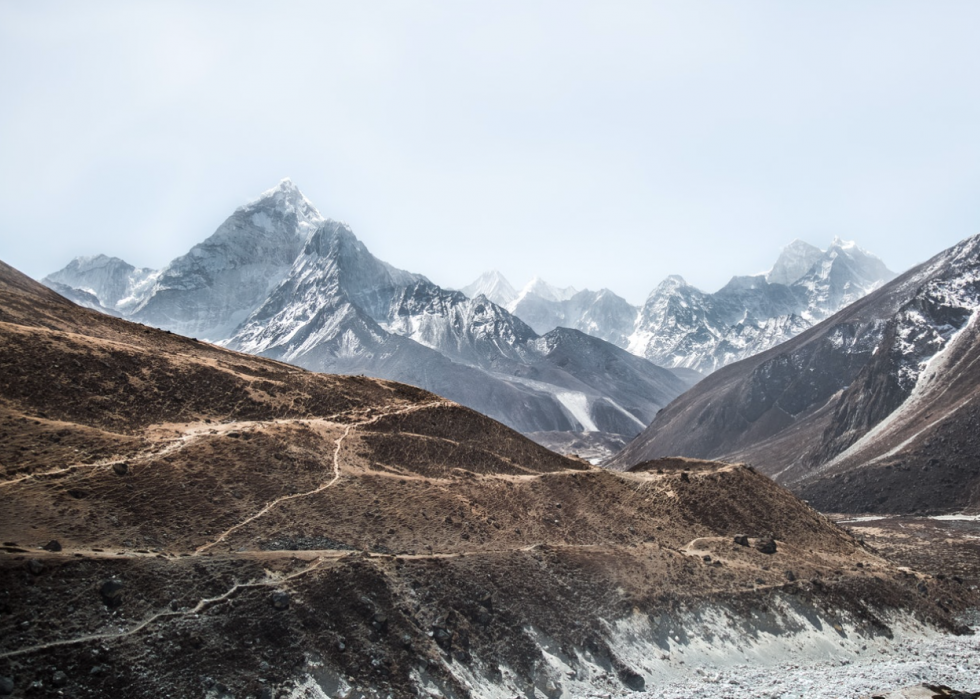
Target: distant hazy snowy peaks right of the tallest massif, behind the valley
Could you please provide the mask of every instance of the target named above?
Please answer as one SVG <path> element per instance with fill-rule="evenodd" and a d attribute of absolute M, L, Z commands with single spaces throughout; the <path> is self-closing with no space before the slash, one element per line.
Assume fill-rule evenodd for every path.
<path fill-rule="evenodd" d="M 485 294 L 536 332 L 575 328 L 658 366 L 709 374 L 785 342 L 894 276 L 874 255 L 835 238 L 826 250 L 796 240 L 769 272 L 733 277 L 714 293 L 670 276 L 639 307 L 609 289 L 557 289 L 540 279 L 516 292 L 499 272 L 463 291 Z"/>

